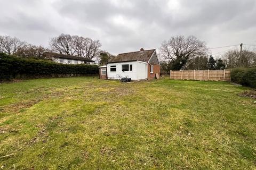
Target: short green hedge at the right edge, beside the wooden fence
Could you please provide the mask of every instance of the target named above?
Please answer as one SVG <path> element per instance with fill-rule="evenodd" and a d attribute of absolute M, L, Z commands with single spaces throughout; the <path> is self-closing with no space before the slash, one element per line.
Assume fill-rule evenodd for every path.
<path fill-rule="evenodd" d="M 231 81 L 256 88 L 256 67 L 231 70 Z"/>

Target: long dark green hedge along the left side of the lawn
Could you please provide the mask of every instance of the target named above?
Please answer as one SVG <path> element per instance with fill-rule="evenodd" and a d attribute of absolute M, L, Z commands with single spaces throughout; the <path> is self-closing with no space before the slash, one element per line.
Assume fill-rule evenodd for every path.
<path fill-rule="evenodd" d="M 0 54 L 0 80 L 95 75 L 98 72 L 97 65 L 59 64 Z"/>

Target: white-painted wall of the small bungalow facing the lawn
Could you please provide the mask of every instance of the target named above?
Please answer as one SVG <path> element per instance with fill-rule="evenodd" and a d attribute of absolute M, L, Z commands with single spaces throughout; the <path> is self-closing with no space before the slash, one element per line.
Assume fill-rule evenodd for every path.
<path fill-rule="evenodd" d="M 122 65 L 129 64 L 129 71 L 122 71 Z M 132 71 L 130 71 L 130 65 L 132 65 Z M 128 77 L 132 80 L 143 80 L 147 79 L 148 63 L 141 61 L 132 62 L 120 62 L 120 63 L 108 63 L 107 73 L 108 79 L 119 79 L 118 75 L 122 77 Z M 116 68 L 116 69 L 115 69 Z M 114 71 L 116 70 L 116 71 Z"/>

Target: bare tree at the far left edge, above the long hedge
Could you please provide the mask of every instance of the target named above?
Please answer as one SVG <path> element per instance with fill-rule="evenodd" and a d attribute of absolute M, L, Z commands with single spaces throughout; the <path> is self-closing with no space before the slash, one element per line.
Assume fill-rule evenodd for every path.
<path fill-rule="evenodd" d="M 25 42 L 20 41 L 18 38 L 10 36 L 0 37 L 0 52 L 7 54 L 15 54 L 19 48 L 23 48 Z"/>

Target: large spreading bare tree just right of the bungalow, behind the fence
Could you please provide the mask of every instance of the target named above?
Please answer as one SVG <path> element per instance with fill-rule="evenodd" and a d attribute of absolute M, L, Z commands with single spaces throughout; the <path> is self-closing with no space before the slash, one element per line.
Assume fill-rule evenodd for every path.
<path fill-rule="evenodd" d="M 194 36 L 175 36 L 163 41 L 160 51 L 165 60 L 171 61 L 172 70 L 180 70 L 189 60 L 206 55 L 208 49 L 204 41 Z"/>

